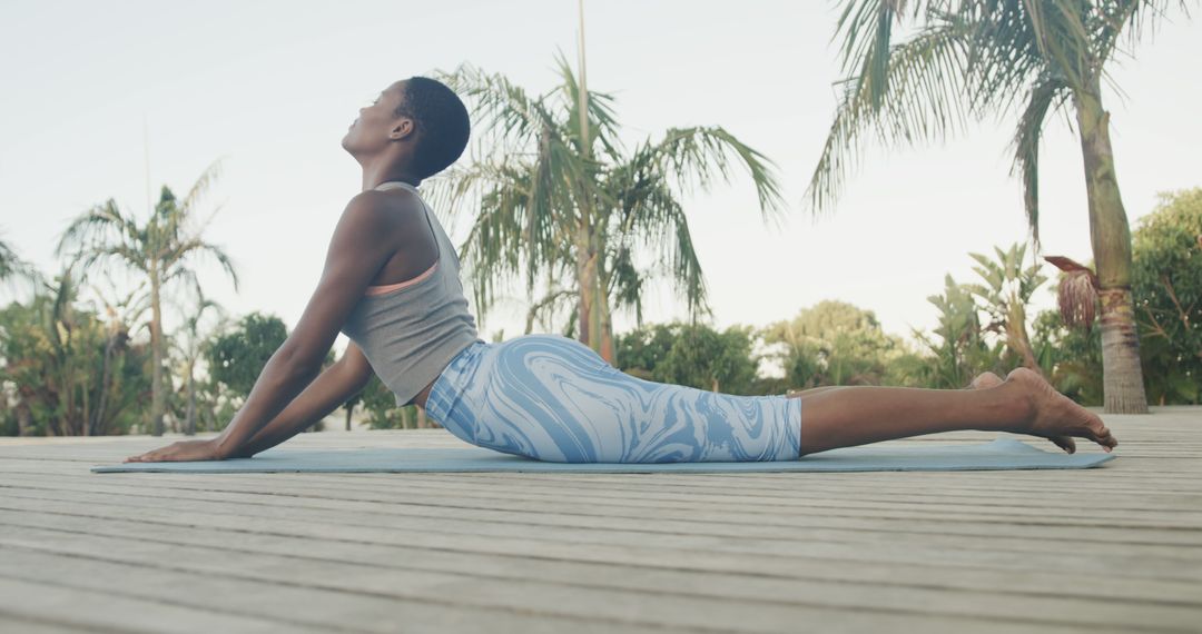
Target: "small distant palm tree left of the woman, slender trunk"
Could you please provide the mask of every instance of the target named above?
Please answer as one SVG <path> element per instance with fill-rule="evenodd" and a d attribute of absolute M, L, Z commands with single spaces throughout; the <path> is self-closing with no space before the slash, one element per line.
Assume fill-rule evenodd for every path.
<path fill-rule="evenodd" d="M 166 343 L 162 336 L 162 292 L 173 281 L 188 281 L 200 294 L 200 281 L 194 271 L 197 256 L 214 257 L 226 270 L 238 288 L 238 274 L 226 252 L 206 243 L 202 233 L 212 221 L 195 222 L 197 205 L 218 175 L 214 163 L 201 174 L 183 201 L 175 198 L 167 186 L 162 187 L 159 204 L 145 222 L 139 223 L 132 215 L 123 213 L 109 198 L 81 214 L 63 233 L 56 255 L 75 249 L 75 258 L 84 271 L 93 264 L 113 262 L 125 265 L 150 282 L 150 347 L 154 366 L 151 371 L 150 427 L 155 436 L 162 435 L 162 417 L 166 411 L 163 393 L 163 360 Z M 215 214 L 216 211 L 214 211 Z"/>

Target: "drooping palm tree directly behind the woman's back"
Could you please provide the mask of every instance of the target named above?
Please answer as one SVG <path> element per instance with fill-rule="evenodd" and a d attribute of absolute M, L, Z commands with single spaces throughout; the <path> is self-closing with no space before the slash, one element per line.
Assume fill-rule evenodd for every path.
<path fill-rule="evenodd" d="M 470 65 L 441 77 L 474 101 L 488 146 L 484 157 L 440 179 L 436 196 L 451 209 L 478 199 L 462 255 L 481 312 L 498 283 L 514 275 L 524 276 L 528 293 L 540 277 L 571 279 L 570 288 L 553 286 L 536 305 L 575 293 L 579 340 L 613 363 L 612 311 L 637 310 L 651 276 L 671 276 L 691 313 L 708 310 L 684 191 L 728 181 L 738 163 L 766 217 L 783 201 L 772 163 L 718 126 L 668 130 L 627 154 L 613 97 L 590 91 L 582 100 L 571 67 L 561 55 L 558 62 L 561 83 L 542 95 Z M 647 247 L 657 256 L 653 262 L 639 258 Z"/>

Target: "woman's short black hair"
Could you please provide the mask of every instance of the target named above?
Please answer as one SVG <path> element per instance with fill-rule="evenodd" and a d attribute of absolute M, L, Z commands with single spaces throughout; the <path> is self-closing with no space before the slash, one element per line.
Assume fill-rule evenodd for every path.
<path fill-rule="evenodd" d="M 395 116 L 409 116 L 417 127 L 413 169 L 421 178 L 442 172 L 463 155 L 471 133 L 468 107 L 454 90 L 429 77 L 405 79 Z"/>

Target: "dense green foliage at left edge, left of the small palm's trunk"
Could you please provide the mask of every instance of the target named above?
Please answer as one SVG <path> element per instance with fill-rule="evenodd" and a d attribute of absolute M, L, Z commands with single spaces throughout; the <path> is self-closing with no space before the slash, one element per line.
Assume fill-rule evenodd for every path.
<path fill-rule="evenodd" d="M 150 389 L 149 349 L 120 323 L 77 303 L 69 271 L 29 304 L 0 310 L 0 383 L 6 432 L 125 433 L 141 421 Z"/>

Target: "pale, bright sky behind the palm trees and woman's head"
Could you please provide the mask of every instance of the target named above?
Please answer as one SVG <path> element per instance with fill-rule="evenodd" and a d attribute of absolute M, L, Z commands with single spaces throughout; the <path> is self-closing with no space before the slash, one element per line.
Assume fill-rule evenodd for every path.
<path fill-rule="evenodd" d="M 938 311 L 926 298 L 945 274 L 970 281 L 969 252 L 1025 239 L 1022 190 L 1008 175 L 1012 116 L 940 145 L 869 148 L 833 213 L 808 214 L 803 195 L 840 79 L 834 4 L 591 0 L 585 17 L 589 86 L 617 96 L 627 142 L 722 125 L 779 166 L 780 228 L 760 221 L 745 178 L 686 199 L 714 325 L 763 325 L 840 299 L 875 311 L 887 331 L 930 329 Z M 236 315 L 273 312 L 291 328 L 359 187 L 339 145 L 358 107 L 395 79 L 463 61 L 543 91 L 555 83 L 555 50 L 575 60 L 576 19 L 575 0 L 5 0 L 0 238 L 55 273 L 60 232 L 89 207 L 112 197 L 145 217 L 145 122 L 154 192 L 167 184 L 183 195 L 222 158 L 206 210 L 222 208 L 206 238 L 233 257 L 242 287 L 204 268 L 206 292 Z M 1200 36 L 1202 24 L 1173 13 L 1133 59 L 1112 65 L 1125 95 L 1107 90 L 1106 106 L 1132 228 L 1158 192 L 1202 185 Z M 1041 163 L 1043 252 L 1085 262 L 1081 150 L 1063 119 L 1048 127 Z M 448 229 L 458 241 L 466 226 Z M 1036 293 L 1036 307 L 1052 304 L 1047 288 Z M 522 298 L 510 305 L 488 318 L 484 339 L 520 333 Z M 647 306 L 651 322 L 685 315 L 666 286 Z M 618 330 L 631 323 L 619 316 Z"/>

